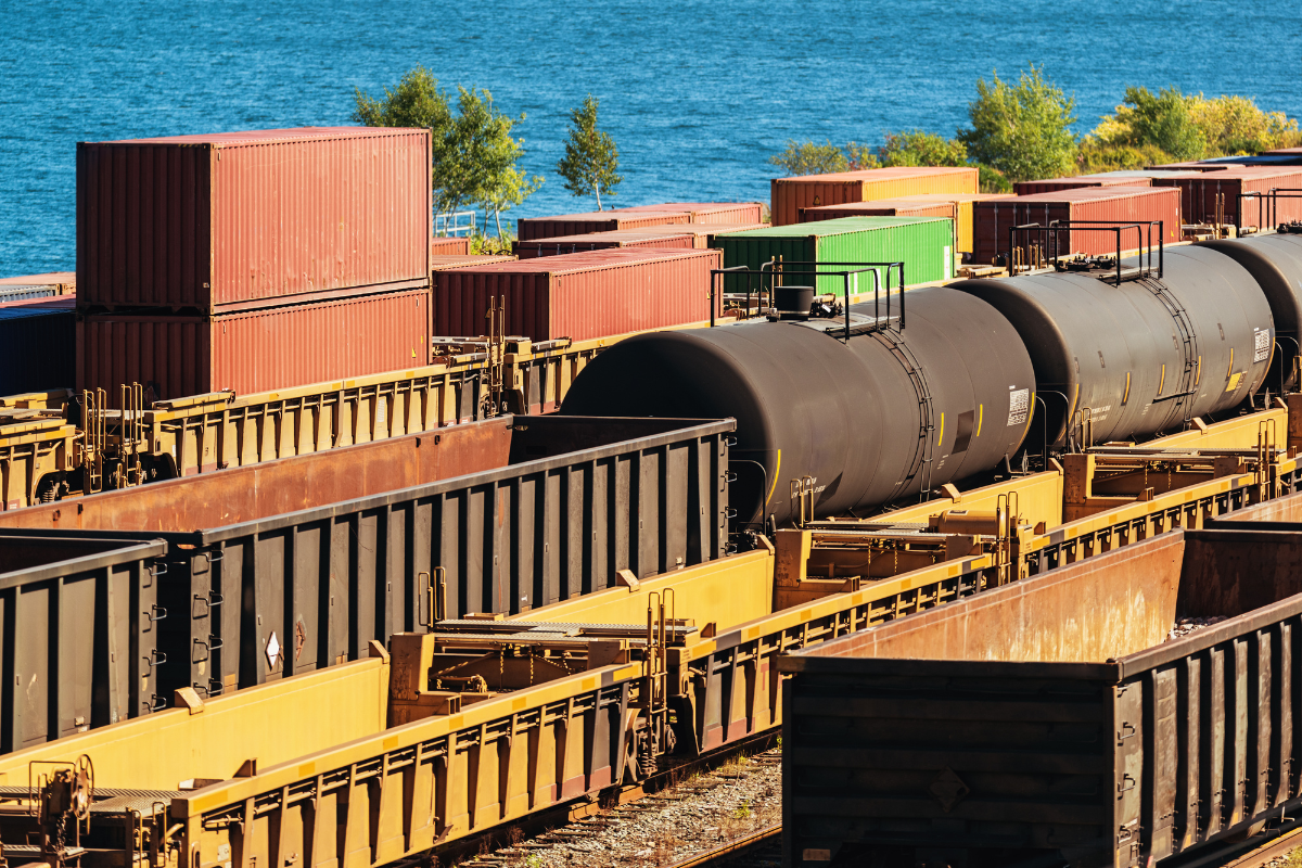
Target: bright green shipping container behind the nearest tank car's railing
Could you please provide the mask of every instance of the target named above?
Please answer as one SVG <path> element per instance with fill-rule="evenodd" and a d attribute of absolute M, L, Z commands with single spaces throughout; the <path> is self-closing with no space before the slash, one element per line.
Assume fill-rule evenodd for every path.
<path fill-rule="evenodd" d="M 814 263 L 868 263 L 902 262 L 905 284 L 926 284 L 934 280 L 949 280 L 954 276 L 954 230 L 953 221 L 945 217 L 841 217 L 840 220 L 820 220 L 818 223 L 797 223 L 788 226 L 732 232 L 715 238 L 715 246 L 724 251 L 724 267 L 746 265 L 759 269 L 763 263 L 780 258 L 783 262 Z M 814 275 L 790 273 L 786 284 L 809 286 Z M 849 271 L 838 265 L 818 265 L 816 292 L 842 295 L 845 278 L 840 275 L 824 275 L 829 271 Z M 879 278 L 885 289 L 885 273 Z M 891 277 L 892 288 L 898 276 Z M 751 289 L 759 284 L 753 277 Z M 724 290 L 745 293 L 745 276 L 728 276 Z M 868 273 L 850 277 L 850 294 L 872 292 L 872 276 Z"/>

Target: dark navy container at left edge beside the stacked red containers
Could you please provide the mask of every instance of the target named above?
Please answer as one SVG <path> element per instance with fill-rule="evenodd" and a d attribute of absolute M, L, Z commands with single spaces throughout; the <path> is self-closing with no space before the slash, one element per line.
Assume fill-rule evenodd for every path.
<path fill-rule="evenodd" d="M 0 394 L 69 389 L 76 377 L 77 325 L 72 297 L 0 306 Z"/>

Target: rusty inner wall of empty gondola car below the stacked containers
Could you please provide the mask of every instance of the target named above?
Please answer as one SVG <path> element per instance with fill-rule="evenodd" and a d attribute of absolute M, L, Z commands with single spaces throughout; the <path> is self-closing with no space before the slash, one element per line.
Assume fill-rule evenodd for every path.
<path fill-rule="evenodd" d="M 0 513 L 0 527 L 195 531 L 504 467 L 509 419 Z"/>

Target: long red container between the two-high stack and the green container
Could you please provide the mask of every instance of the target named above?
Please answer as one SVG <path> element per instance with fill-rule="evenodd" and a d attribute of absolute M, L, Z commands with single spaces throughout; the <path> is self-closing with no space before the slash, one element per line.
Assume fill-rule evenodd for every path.
<path fill-rule="evenodd" d="M 506 306 L 506 333 L 586 341 L 710 319 L 717 250 L 612 247 L 434 275 L 434 332 L 484 333 L 490 299 Z M 721 299 L 716 301 L 716 314 Z"/>

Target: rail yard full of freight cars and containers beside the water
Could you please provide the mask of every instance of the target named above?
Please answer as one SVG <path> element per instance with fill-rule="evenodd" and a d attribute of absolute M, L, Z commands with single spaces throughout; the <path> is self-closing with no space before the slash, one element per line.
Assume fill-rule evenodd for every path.
<path fill-rule="evenodd" d="M 777 178 L 475 256 L 426 130 L 81 143 L 76 272 L 0 280 L 0 859 L 1266 864 L 1266 157 Z"/>

